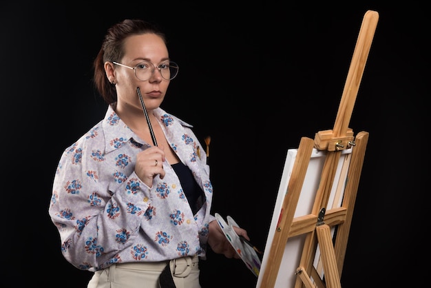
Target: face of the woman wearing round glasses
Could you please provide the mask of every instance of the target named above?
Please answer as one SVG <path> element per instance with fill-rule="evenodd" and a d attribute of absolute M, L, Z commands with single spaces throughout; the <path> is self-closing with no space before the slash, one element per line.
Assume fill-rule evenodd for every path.
<path fill-rule="evenodd" d="M 160 63 L 169 60 L 165 42 L 156 34 L 139 34 L 125 39 L 125 54 L 120 63 L 129 67 L 136 67 L 138 63 L 147 61 L 156 69 L 149 79 L 142 81 L 135 76 L 135 71 L 121 65 L 114 65 L 118 105 L 132 106 L 142 110 L 136 88 L 145 101 L 147 110 L 154 110 L 160 106 L 169 86 L 169 80 L 163 79 L 157 68 Z M 151 70 L 151 69 L 150 69 Z"/>

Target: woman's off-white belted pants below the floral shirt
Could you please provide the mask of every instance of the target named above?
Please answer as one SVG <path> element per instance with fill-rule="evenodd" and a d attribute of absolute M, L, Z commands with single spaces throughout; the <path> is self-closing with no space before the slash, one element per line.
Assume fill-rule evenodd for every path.
<path fill-rule="evenodd" d="M 94 272 L 87 288 L 160 288 L 158 278 L 168 263 L 176 288 L 201 288 L 198 256 L 153 263 L 113 264 Z"/>

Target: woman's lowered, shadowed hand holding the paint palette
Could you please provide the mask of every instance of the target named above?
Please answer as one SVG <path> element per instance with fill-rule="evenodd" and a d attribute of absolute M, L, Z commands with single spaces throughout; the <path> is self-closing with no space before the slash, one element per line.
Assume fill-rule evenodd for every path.
<path fill-rule="evenodd" d="M 244 236 L 244 238 L 250 240 L 246 230 L 236 226 L 233 226 L 233 229 L 238 236 Z M 208 244 L 215 253 L 224 254 L 227 258 L 240 258 L 231 243 L 229 243 L 229 240 L 224 236 L 222 228 L 218 225 L 217 220 L 213 220 L 209 223 Z"/>

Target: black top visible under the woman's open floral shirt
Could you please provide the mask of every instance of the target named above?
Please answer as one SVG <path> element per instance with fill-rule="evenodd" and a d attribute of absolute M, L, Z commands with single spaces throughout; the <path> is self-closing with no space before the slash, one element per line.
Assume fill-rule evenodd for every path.
<path fill-rule="evenodd" d="M 198 212 L 198 209 L 202 205 L 202 201 L 200 196 L 202 196 L 202 189 L 199 187 L 198 183 L 196 183 L 191 170 L 186 165 L 181 162 L 173 164 L 172 168 L 174 168 L 175 173 L 178 178 L 180 178 L 180 183 L 182 186 L 182 192 L 184 192 L 187 200 L 189 201 L 189 205 L 193 214 Z"/>

